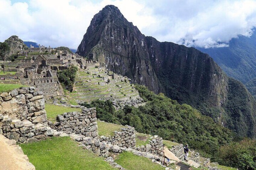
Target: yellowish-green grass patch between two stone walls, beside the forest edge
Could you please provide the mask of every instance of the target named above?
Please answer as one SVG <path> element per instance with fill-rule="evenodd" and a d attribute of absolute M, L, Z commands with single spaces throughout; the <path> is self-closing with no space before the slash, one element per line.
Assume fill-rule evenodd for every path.
<path fill-rule="evenodd" d="M 125 128 L 125 126 L 122 125 L 116 125 L 113 123 L 107 123 L 107 122 L 102 122 L 102 121 L 97 121 L 98 122 L 98 131 L 99 131 L 99 136 L 113 136 L 114 131 L 121 131 L 121 128 Z"/>

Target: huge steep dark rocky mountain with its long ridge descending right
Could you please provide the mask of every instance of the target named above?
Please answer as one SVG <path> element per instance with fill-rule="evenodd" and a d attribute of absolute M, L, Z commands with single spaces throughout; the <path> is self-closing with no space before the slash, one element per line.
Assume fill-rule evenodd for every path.
<path fill-rule="evenodd" d="M 256 102 L 242 83 L 230 79 L 208 54 L 144 36 L 113 5 L 94 15 L 77 53 L 196 107 L 238 136 L 256 136 Z"/>

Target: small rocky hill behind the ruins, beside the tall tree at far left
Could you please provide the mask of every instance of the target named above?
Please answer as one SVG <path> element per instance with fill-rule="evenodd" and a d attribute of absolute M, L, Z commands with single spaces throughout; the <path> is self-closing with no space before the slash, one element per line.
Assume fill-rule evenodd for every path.
<path fill-rule="evenodd" d="M 28 49 L 27 45 L 25 45 L 18 36 L 11 36 L 10 38 L 6 39 L 5 42 L 10 46 L 11 49 L 8 56 L 11 56 L 12 54 L 17 54 L 17 52 Z"/>

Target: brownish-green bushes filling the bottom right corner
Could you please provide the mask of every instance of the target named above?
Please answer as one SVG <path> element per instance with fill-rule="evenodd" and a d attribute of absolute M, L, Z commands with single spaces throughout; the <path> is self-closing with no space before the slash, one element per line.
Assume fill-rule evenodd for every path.
<path fill-rule="evenodd" d="M 219 164 L 239 169 L 256 170 L 256 141 L 245 139 L 220 147 L 217 153 Z"/>

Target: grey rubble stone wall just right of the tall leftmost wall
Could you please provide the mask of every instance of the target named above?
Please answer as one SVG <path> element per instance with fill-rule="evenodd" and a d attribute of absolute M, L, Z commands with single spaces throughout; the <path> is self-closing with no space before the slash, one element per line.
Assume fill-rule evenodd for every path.
<path fill-rule="evenodd" d="M 75 133 L 86 137 L 98 137 L 98 125 L 96 118 L 96 108 L 83 108 L 82 113 L 68 112 L 58 115 L 56 122 L 52 125 L 57 131 L 64 131 L 67 134 Z"/>

